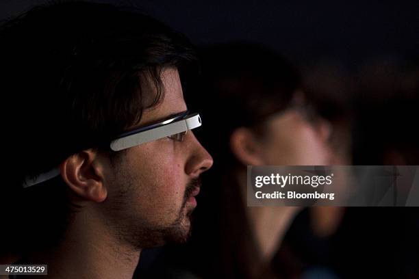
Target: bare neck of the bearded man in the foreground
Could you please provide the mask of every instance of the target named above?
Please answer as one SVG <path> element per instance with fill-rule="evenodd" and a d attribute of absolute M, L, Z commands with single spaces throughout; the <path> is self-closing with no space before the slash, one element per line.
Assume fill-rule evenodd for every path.
<path fill-rule="evenodd" d="M 132 278 L 140 250 L 120 243 L 99 222 L 76 215 L 60 245 L 30 255 L 27 262 L 47 264 L 48 278 Z"/>

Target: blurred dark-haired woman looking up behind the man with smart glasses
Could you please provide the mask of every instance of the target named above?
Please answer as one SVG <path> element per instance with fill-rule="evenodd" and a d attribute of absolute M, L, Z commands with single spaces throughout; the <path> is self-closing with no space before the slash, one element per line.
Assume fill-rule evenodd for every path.
<path fill-rule="evenodd" d="M 203 176 L 190 263 L 203 278 L 276 278 L 275 255 L 298 209 L 246 207 L 246 165 L 329 165 L 329 125 L 274 51 L 229 44 L 206 49 L 202 61 L 202 92 L 190 101 L 215 163 Z"/>

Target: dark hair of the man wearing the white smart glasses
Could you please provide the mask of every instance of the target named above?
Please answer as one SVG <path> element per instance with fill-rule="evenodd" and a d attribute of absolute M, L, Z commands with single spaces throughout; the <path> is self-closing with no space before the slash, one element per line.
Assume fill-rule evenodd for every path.
<path fill-rule="evenodd" d="M 5 21 L 0 61 L 7 162 L 0 203 L 3 220 L 14 220 L 3 233 L 16 239 L 2 246 L 17 253 L 58 241 L 71 216 L 61 177 L 27 189 L 24 179 L 80 150 L 106 150 L 164 98 L 162 68 L 177 68 L 184 83 L 196 66 L 188 39 L 166 25 L 83 1 L 32 8 Z M 155 96 L 142 92 L 146 78 Z"/>

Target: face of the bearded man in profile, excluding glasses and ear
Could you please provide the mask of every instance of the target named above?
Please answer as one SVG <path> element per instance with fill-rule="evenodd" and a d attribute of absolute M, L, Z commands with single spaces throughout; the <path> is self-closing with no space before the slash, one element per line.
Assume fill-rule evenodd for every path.
<path fill-rule="evenodd" d="M 164 98 L 144 110 L 138 127 L 186 111 L 177 70 L 162 70 L 162 83 Z M 155 92 L 152 85 L 142 90 Z M 129 148 L 112 161 L 103 219 L 116 237 L 134 247 L 185 241 L 196 207 L 199 175 L 211 165 L 211 156 L 192 131 L 183 142 L 164 137 Z"/>

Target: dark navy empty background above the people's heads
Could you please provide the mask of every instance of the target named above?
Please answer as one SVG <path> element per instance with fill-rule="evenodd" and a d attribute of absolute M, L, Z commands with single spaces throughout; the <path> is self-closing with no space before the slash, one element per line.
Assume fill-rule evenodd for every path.
<path fill-rule="evenodd" d="M 0 18 L 46 2 L 1 1 Z M 259 42 L 301 68 L 327 59 L 352 71 L 377 57 L 414 57 L 419 49 L 418 1 L 99 2 L 136 6 L 198 45 Z"/>

